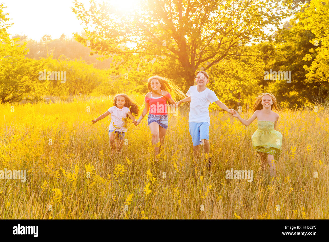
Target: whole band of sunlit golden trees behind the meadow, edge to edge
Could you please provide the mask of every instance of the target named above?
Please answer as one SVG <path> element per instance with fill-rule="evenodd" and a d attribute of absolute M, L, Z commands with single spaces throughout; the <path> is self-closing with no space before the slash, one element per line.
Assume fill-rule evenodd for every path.
<path fill-rule="evenodd" d="M 209 36 L 202 35 L 196 27 L 191 27 L 204 29 L 197 15 L 201 10 L 193 8 L 195 18 L 183 18 L 186 27 L 178 25 L 177 30 L 169 23 L 167 26 L 157 24 L 159 19 L 166 18 L 163 12 L 153 16 L 154 19 L 145 20 L 153 25 L 150 24 L 144 32 L 138 26 L 140 22 L 123 18 L 120 23 L 112 20 L 112 25 L 108 26 L 110 29 L 106 29 L 108 33 L 86 32 L 75 34 L 74 38 L 62 35 L 55 40 L 45 35 L 40 41 L 26 36 L 9 36 L 11 25 L 7 24 L 3 12 L 5 7 L 0 4 L 0 26 L 3 26 L 0 29 L 0 103 L 35 100 L 44 95 L 146 93 L 146 80 L 152 75 L 173 79 L 183 91 L 187 91 L 193 85 L 194 73 L 198 69 L 209 73 L 208 87 L 230 106 L 247 106 L 260 92 L 276 94 L 283 107 L 328 101 L 329 12 L 324 10 L 328 9 L 329 0 L 283 3 L 287 4 L 285 6 L 293 17 L 280 28 L 279 20 L 289 14 L 279 11 L 282 15 L 271 19 L 277 26 L 274 35 L 261 32 L 268 24 L 262 17 L 272 15 L 261 13 L 264 16 L 259 16 L 258 11 L 235 18 L 218 16 L 227 21 L 222 26 L 218 25 L 221 23 L 219 19 L 208 19 L 205 31 Z M 214 9 L 221 8 L 216 2 L 208 4 L 213 4 Z M 228 0 L 227 4 L 223 11 L 237 14 L 239 6 L 234 5 L 233 0 Z M 267 3 L 263 4 L 266 6 Z M 74 12 L 79 14 L 80 7 L 77 5 Z M 144 7 L 147 10 L 156 8 Z M 248 5 L 240 8 L 253 9 Z M 97 17 L 102 11 L 105 10 L 97 11 L 93 6 L 88 17 Z M 199 14 L 212 13 L 213 9 L 209 7 L 202 11 Z M 232 27 L 231 21 L 239 19 L 241 23 L 246 21 L 243 22 L 244 29 Z M 130 31 L 120 31 L 122 26 Z M 211 34 L 210 30 L 217 33 Z M 135 47 L 128 47 L 128 40 L 132 38 L 129 35 L 137 34 L 143 41 L 137 41 Z M 53 72 L 59 73 L 57 77 L 61 78 L 56 80 Z M 45 74 L 41 76 L 40 73 Z M 62 80 L 64 74 L 65 80 Z"/>

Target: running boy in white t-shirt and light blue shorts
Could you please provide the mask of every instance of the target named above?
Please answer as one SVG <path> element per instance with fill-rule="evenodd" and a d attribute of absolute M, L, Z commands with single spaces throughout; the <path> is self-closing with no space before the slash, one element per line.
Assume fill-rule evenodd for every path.
<path fill-rule="evenodd" d="M 208 154 L 210 151 L 209 144 L 209 104 L 215 102 L 220 108 L 232 114 L 233 109 L 228 109 L 224 103 L 218 100 L 216 94 L 206 87 L 209 82 L 209 75 L 203 70 L 196 72 L 195 78 L 196 86 L 191 86 L 189 91 L 186 93 L 188 96 L 176 103 L 176 107 L 181 105 L 183 102 L 190 103 L 190 114 L 189 114 L 189 127 L 190 135 L 192 136 L 193 153 L 194 157 L 199 157 L 199 146 L 204 145 L 205 152 Z M 208 158 L 208 167 L 211 166 L 211 159 Z"/>

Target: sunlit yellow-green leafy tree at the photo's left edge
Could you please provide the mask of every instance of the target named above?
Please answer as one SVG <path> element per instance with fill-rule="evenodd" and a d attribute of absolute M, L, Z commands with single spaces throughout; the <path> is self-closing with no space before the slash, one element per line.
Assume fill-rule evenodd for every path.
<path fill-rule="evenodd" d="M 26 45 L 17 44 L 18 38 L 10 39 L 10 25 L 0 4 L 0 103 L 38 99 L 44 94 L 46 81 L 39 80 L 38 71 L 43 69 L 46 59 L 41 61 L 25 57 Z"/>

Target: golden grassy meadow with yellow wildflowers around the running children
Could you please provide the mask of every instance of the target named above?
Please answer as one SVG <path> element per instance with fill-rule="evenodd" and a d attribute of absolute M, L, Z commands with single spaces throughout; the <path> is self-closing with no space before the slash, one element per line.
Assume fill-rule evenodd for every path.
<path fill-rule="evenodd" d="M 0 180 L 1 219 L 329 218 L 327 108 L 280 114 L 283 153 L 271 181 L 252 150 L 257 121 L 244 127 L 218 110 L 210 113 L 213 166 L 194 163 L 188 105 L 169 115 L 157 162 L 147 118 L 130 121 L 121 154 L 109 147 L 110 115 L 90 123 L 113 97 L 0 105 L 0 170 L 27 172 L 26 182 Z M 253 181 L 225 179 L 232 168 L 253 170 Z"/>

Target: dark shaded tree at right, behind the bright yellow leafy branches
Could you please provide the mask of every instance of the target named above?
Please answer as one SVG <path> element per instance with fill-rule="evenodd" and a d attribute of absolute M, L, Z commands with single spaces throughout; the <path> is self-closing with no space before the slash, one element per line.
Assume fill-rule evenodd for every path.
<path fill-rule="evenodd" d="M 290 26 L 279 29 L 276 36 L 275 52 L 267 65 L 266 71 L 291 72 L 291 80 L 266 81 L 269 83 L 268 90 L 278 95 L 278 100 L 286 106 L 302 105 L 305 102 L 318 99 L 319 84 L 306 80 L 307 71 L 305 65 L 310 61 L 303 60 L 309 50 L 314 47 L 310 40 L 314 38 L 311 31 L 305 30 L 304 25 L 291 19 Z"/>

